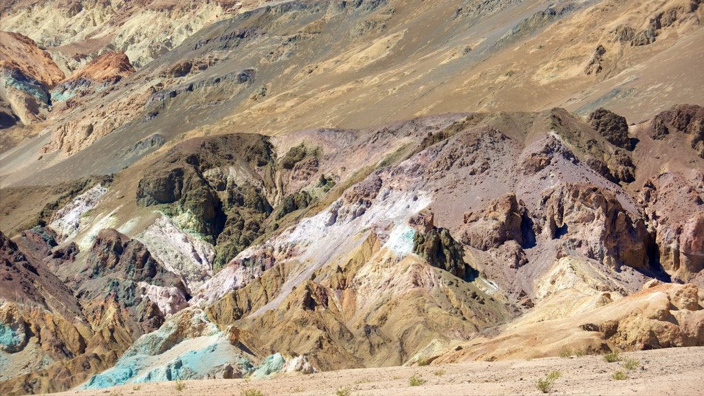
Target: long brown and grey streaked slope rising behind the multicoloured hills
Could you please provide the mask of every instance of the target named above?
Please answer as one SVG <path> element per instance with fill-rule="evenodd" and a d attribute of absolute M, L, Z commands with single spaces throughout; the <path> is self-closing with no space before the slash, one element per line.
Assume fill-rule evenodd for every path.
<path fill-rule="evenodd" d="M 700 75 L 689 70 L 700 61 L 702 10 L 661 0 L 284 1 L 194 29 L 149 64 L 108 48 L 139 73 L 52 114 L 31 149 L 6 154 L 2 182 L 31 184 L 25 166 L 43 169 L 34 182 L 112 173 L 139 157 L 121 150 L 155 131 L 175 144 L 366 128 L 467 106 L 582 116 L 606 106 L 639 122 L 700 100 Z M 96 152 L 111 158 L 97 163 Z"/>

